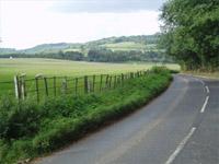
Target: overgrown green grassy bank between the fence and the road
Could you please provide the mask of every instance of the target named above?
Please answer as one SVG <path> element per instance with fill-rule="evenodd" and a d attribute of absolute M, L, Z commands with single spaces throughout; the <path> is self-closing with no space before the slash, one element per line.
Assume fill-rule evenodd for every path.
<path fill-rule="evenodd" d="M 0 104 L 0 163 L 36 157 L 80 139 L 148 103 L 171 79 L 168 70 L 155 69 L 95 95 L 57 97 L 41 104 L 4 98 Z"/>

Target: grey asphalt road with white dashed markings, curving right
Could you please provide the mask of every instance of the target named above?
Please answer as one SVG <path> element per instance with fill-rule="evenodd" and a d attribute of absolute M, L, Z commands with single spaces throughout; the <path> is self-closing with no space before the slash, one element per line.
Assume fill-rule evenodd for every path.
<path fill-rule="evenodd" d="M 157 99 L 37 164 L 219 164 L 219 81 L 175 75 Z"/>

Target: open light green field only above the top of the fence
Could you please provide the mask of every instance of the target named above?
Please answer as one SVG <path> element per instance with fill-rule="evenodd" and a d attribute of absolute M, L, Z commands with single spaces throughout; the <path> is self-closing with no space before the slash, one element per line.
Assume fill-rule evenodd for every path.
<path fill-rule="evenodd" d="M 159 63 L 158 63 L 159 65 Z M 90 74 L 106 74 L 135 72 L 150 69 L 154 63 L 103 63 L 56 59 L 0 59 L 0 82 L 11 81 L 15 74 L 26 73 L 34 78 L 38 73 L 45 75 L 81 77 Z M 180 69 L 177 65 L 166 65 L 170 69 Z"/>

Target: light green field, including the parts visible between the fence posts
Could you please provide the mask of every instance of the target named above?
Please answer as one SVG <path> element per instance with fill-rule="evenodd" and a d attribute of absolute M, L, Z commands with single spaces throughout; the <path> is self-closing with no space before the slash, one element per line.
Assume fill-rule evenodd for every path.
<path fill-rule="evenodd" d="M 69 61 L 69 60 L 56 60 L 56 59 L 0 59 L 0 95 L 10 93 L 14 95 L 13 77 L 15 74 L 26 74 L 26 79 L 33 79 L 36 74 L 43 74 L 44 77 L 69 77 L 69 92 L 73 93 L 74 81 L 72 78 L 93 75 L 93 74 L 118 74 L 125 72 L 136 72 L 139 70 L 150 69 L 155 63 L 103 63 L 103 62 L 84 62 L 84 61 Z M 160 63 L 158 63 L 160 65 Z M 170 69 L 178 69 L 177 65 L 166 65 Z M 57 79 L 57 92 L 61 93 L 61 84 L 64 78 Z M 106 80 L 106 77 L 104 77 Z M 2 82 L 10 83 L 2 83 Z M 100 89 L 100 77 L 96 77 L 96 90 Z M 53 79 L 48 80 L 48 87 L 54 87 Z M 80 91 L 84 91 L 83 79 L 79 79 Z M 26 82 L 27 92 L 33 92 L 35 95 L 35 81 Z M 39 81 L 39 89 L 45 94 L 44 80 Z M 53 89 L 49 90 L 49 94 L 53 93 Z M 31 95 L 32 95 L 31 94 Z"/>

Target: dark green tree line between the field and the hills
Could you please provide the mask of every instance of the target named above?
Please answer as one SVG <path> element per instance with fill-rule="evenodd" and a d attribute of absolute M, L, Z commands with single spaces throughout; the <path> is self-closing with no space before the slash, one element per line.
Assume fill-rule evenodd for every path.
<path fill-rule="evenodd" d="M 74 61 L 96 61 L 96 62 L 126 62 L 126 61 L 155 61 L 155 62 L 173 62 L 162 51 L 113 51 L 106 48 L 93 48 L 84 55 L 80 51 L 58 51 L 58 52 L 41 52 L 41 54 L 9 54 L 1 55 L 0 58 L 53 58 Z"/>

